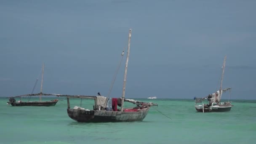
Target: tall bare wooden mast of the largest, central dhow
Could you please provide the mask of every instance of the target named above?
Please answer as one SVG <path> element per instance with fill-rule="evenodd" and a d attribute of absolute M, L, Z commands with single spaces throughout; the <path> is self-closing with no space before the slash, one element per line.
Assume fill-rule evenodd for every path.
<path fill-rule="evenodd" d="M 129 55 L 130 55 L 130 43 L 131 43 L 131 29 L 129 30 L 129 36 L 128 36 L 128 48 L 127 48 L 127 56 L 126 56 L 126 63 L 125 63 L 125 76 L 124 76 L 124 80 L 123 80 L 121 112 L 123 112 L 123 103 L 125 100 L 125 85 L 126 85 L 126 77 L 127 77 L 128 60 L 129 60 Z"/>

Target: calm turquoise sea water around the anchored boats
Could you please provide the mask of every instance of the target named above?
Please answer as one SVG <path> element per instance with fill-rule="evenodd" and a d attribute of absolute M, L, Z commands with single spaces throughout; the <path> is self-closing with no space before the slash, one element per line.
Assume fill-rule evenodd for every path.
<path fill-rule="evenodd" d="M 51 100 L 55 98 L 44 98 Z M 37 98 L 31 100 L 37 101 Z M 1 144 L 251 144 L 256 141 L 256 100 L 232 100 L 230 112 L 200 113 L 193 99 L 153 101 L 142 122 L 77 123 L 67 100 L 54 107 L 12 107 L 0 98 Z M 71 99 L 71 107 L 80 100 Z M 91 100 L 82 107 L 91 109 Z M 126 105 L 128 106 L 128 105 Z M 171 117 L 165 117 L 164 115 Z"/>

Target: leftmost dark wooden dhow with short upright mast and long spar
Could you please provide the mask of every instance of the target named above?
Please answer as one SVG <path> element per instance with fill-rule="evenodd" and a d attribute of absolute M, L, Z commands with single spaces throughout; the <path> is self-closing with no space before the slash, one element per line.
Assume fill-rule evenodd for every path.
<path fill-rule="evenodd" d="M 44 72 L 44 64 L 43 64 L 43 67 L 42 67 L 42 80 L 41 80 L 40 93 L 33 93 L 33 91 L 35 89 L 35 85 L 37 84 L 37 81 L 36 81 L 36 83 L 34 85 L 34 88 L 33 88 L 33 91 L 32 91 L 32 94 L 25 94 L 25 95 L 21 95 L 21 96 L 8 97 L 9 101 L 7 102 L 7 104 L 11 104 L 12 106 L 45 106 L 45 107 L 55 106 L 55 104 L 59 101 L 58 99 L 53 99 L 51 101 L 42 101 L 42 96 L 56 96 L 56 94 L 42 93 L 42 90 L 43 90 L 43 72 Z M 39 96 L 39 101 L 23 101 L 21 98 L 25 97 L 25 96 L 29 96 L 29 98 L 31 96 Z M 16 101 L 15 98 L 19 98 L 20 100 Z"/>

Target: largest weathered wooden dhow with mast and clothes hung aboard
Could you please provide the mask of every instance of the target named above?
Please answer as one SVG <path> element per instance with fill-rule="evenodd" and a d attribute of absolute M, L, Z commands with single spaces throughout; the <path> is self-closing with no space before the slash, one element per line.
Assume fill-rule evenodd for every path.
<path fill-rule="evenodd" d="M 153 103 L 144 103 L 133 99 L 125 99 L 125 85 L 127 77 L 128 59 L 130 54 L 131 29 L 128 36 L 128 50 L 125 63 L 125 74 L 123 81 L 123 93 L 121 98 L 109 98 L 104 96 L 75 96 L 75 95 L 58 95 L 67 97 L 67 114 L 73 120 L 83 123 L 104 123 L 104 122 L 131 122 L 142 121 L 150 109 L 157 105 Z M 123 53 L 122 53 L 123 55 Z M 70 107 L 69 99 L 93 99 L 93 109 L 85 109 L 83 107 Z M 104 100 L 102 100 L 104 99 Z M 118 102 L 119 101 L 119 102 Z M 124 102 L 136 104 L 135 107 L 124 108 Z M 118 104 L 120 103 L 120 104 Z M 120 109 L 117 108 L 117 104 Z"/>

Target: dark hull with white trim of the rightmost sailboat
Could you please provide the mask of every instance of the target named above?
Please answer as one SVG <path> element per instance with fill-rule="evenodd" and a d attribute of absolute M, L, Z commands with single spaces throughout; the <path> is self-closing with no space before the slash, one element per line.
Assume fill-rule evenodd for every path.
<path fill-rule="evenodd" d="M 208 107 L 195 107 L 197 112 L 229 112 L 233 105 L 222 105 L 222 106 L 213 106 L 212 108 Z"/>

